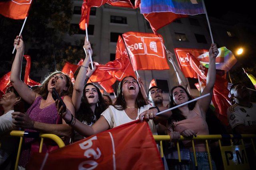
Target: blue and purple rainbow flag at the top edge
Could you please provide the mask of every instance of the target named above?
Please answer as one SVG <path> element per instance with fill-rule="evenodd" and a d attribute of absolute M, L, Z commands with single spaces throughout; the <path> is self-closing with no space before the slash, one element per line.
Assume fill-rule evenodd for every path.
<path fill-rule="evenodd" d="M 141 0 L 140 13 L 205 14 L 202 0 Z"/>

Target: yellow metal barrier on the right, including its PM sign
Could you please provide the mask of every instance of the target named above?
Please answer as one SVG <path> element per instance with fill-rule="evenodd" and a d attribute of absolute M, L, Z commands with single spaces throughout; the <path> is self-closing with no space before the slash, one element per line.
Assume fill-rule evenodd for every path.
<path fill-rule="evenodd" d="M 162 145 L 162 141 L 170 141 L 170 136 L 169 135 L 153 135 L 154 136 L 154 139 L 155 141 L 160 141 L 160 155 L 161 157 L 163 158 L 164 157 L 164 152 L 163 152 L 163 145 Z M 226 146 L 222 147 L 221 145 L 221 139 L 230 139 L 230 143 L 231 143 L 231 146 L 227 146 L 227 147 L 234 147 L 236 149 L 243 149 L 243 152 L 245 153 L 245 159 L 248 160 L 247 156 L 246 156 L 246 151 L 245 151 L 245 147 L 244 147 L 244 141 L 243 139 L 248 139 L 250 138 L 251 139 L 251 143 L 252 143 L 252 147 L 254 149 L 254 153 L 256 154 L 256 149 L 255 149 L 255 145 L 254 145 L 254 141 L 253 139 L 256 138 L 256 135 L 252 135 L 252 134 L 244 134 L 244 135 L 196 135 L 196 137 L 193 137 L 193 138 L 186 138 L 186 137 L 183 137 L 183 136 L 180 136 L 180 141 L 192 141 L 192 149 L 193 149 L 193 153 L 194 153 L 194 160 L 195 160 L 195 166 L 197 168 L 198 164 L 197 164 L 197 160 L 196 160 L 196 150 L 195 150 L 195 145 L 194 145 L 194 141 L 197 141 L 197 140 L 204 140 L 205 141 L 205 144 L 206 144 L 206 150 L 207 150 L 207 153 L 208 153 L 208 161 L 209 161 L 209 165 L 210 165 L 210 170 L 212 170 L 212 162 L 211 162 L 211 155 L 210 155 L 210 150 L 209 150 L 209 145 L 208 145 L 208 140 L 218 140 L 218 144 L 220 146 L 220 151 L 222 153 L 222 162 L 223 162 L 223 165 L 224 165 L 224 169 L 232 169 L 234 168 L 233 166 L 230 166 L 230 161 L 231 158 L 233 160 L 233 158 L 235 156 L 232 156 L 231 154 L 233 152 L 231 151 L 227 151 L 227 148 Z M 241 142 L 242 142 L 242 145 L 233 145 L 233 141 L 234 139 L 241 139 Z M 179 141 L 176 141 L 176 146 L 177 146 L 177 150 L 178 150 L 178 160 L 179 160 L 179 163 L 181 162 L 181 158 L 180 158 L 180 146 L 179 146 Z M 239 148 L 240 147 L 240 148 Z M 239 150 L 237 152 L 237 150 L 232 150 L 232 151 L 235 151 L 236 153 L 236 156 L 239 157 L 241 156 L 241 154 L 239 153 Z M 242 152 L 242 153 L 243 153 Z M 227 153 L 227 154 L 226 154 Z M 223 155 L 224 154 L 224 155 Z M 230 157 L 227 157 L 230 156 Z M 243 154 L 242 154 L 243 156 Z M 229 159 L 229 160 L 226 160 L 226 159 Z M 241 158 L 241 157 L 240 157 Z M 239 159 L 239 158 L 238 158 Z M 243 157 L 242 157 L 243 159 Z M 224 162 L 226 161 L 226 162 Z M 240 162 L 240 160 L 238 160 L 238 162 Z M 248 162 L 248 161 L 247 161 Z M 232 163 L 232 162 L 231 162 Z M 237 162 L 235 162 L 236 164 Z M 227 165 L 230 166 L 225 166 Z M 239 163 L 240 164 L 240 163 Z M 246 166 L 248 167 L 249 165 L 246 164 Z"/>

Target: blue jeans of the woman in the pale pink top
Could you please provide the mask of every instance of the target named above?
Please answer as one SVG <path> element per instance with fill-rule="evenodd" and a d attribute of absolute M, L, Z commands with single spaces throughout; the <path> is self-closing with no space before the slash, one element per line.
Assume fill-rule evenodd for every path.
<path fill-rule="evenodd" d="M 170 168 L 172 170 L 209 170 L 210 165 L 208 161 L 207 152 L 196 152 L 197 167 L 195 165 L 194 154 L 190 152 L 190 161 L 182 162 L 180 165 L 176 164 L 174 167 Z M 212 169 L 216 170 L 216 165 L 211 159 Z"/>

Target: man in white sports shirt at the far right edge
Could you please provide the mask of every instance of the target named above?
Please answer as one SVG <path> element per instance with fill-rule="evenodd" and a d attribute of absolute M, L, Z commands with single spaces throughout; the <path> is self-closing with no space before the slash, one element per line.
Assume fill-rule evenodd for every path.
<path fill-rule="evenodd" d="M 235 102 L 227 110 L 228 121 L 235 133 L 256 133 L 256 103 L 250 102 L 250 93 L 240 82 L 230 88 L 231 100 Z"/>

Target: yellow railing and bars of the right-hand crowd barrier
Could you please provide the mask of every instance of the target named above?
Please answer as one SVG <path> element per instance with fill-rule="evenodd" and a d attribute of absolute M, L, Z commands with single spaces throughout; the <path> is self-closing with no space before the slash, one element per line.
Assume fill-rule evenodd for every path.
<path fill-rule="evenodd" d="M 193 153 L 194 153 L 195 166 L 197 167 L 198 164 L 197 164 L 197 160 L 196 160 L 196 150 L 195 150 L 195 146 L 194 146 L 194 140 L 201 140 L 201 141 L 204 140 L 205 143 L 206 143 L 206 150 L 207 150 L 207 153 L 208 153 L 208 161 L 209 161 L 210 170 L 212 170 L 212 162 L 211 162 L 211 157 L 210 157 L 210 150 L 209 150 L 209 146 L 208 146 L 208 140 L 218 140 L 220 150 L 222 152 L 223 149 L 222 149 L 222 145 L 221 145 L 220 140 L 221 139 L 227 139 L 224 136 L 227 137 L 227 135 L 197 135 L 196 137 L 193 137 L 193 138 L 186 138 L 186 137 L 180 136 L 180 141 L 192 141 L 192 149 L 193 149 Z M 235 137 L 234 137 L 234 135 L 228 135 L 228 136 L 230 138 L 230 143 L 231 143 L 231 147 L 232 147 L 233 146 L 232 139 L 239 139 L 239 138 L 236 137 L 237 135 Z M 153 135 L 153 137 L 154 137 L 155 141 L 160 141 L 160 155 L 163 158 L 164 153 L 163 153 L 163 149 L 162 149 L 163 148 L 162 147 L 162 141 L 170 141 L 170 136 L 169 135 Z M 254 149 L 254 153 L 256 154 L 256 149 L 255 149 L 254 142 L 253 142 L 253 138 L 256 138 L 256 135 L 244 134 L 244 135 L 240 135 L 240 137 L 242 138 L 241 139 L 242 145 L 238 145 L 238 146 L 244 147 L 243 139 L 250 138 L 251 142 L 252 142 L 253 149 Z M 179 160 L 179 162 L 181 162 L 179 141 L 176 141 L 176 146 L 177 146 L 177 150 L 178 150 L 178 160 Z M 244 150 L 244 152 L 246 154 L 245 150 Z M 245 157 L 247 159 L 247 156 L 245 156 Z M 223 161 L 223 164 L 224 164 L 223 155 L 222 155 L 222 161 Z M 228 169 L 227 167 L 225 167 L 225 164 L 224 164 L 224 168 Z"/>

